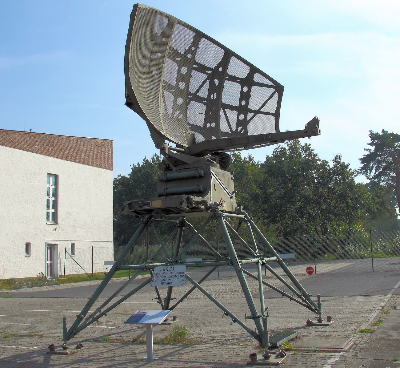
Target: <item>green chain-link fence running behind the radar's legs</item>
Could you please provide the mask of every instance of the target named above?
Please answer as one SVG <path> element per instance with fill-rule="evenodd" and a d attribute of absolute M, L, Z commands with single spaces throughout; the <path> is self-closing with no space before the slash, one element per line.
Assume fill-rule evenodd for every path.
<path fill-rule="evenodd" d="M 275 251 L 286 261 L 289 269 L 295 275 L 306 272 L 307 267 L 313 267 L 315 273 L 325 272 L 372 272 L 372 271 L 400 271 L 400 231 L 370 231 L 362 229 L 346 233 L 344 236 L 300 236 L 276 237 L 269 239 Z M 257 241 L 258 253 L 271 257 L 260 241 Z M 254 258 L 254 252 L 246 245 L 235 241 L 235 250 L 239 259 Z M 124 246 L 115 246 L 114 254 L 110 248 L 80 249 L 79 257 L 72 257 L 66 251 L 63 273 L 88 273 L 110 269 L 113 260 L 116 260 Z M 165 251 L 164 251 L 165 250 Z M 162 263 L 167 261 L 167 256 L 172 257 L 176 251 L 176 244 L 170 241 L 164 245 L 136 244 L 122 261 L 122 265 L 142 264 L 148 259 L 152 262 Z M 92 255 L 93 251 L 93 255 Z M 180 259 L 182 260 L 214 260 L 228 255 L 227 247 L 222 239 L 208 241 L 206 245 L 198 241 L 188 245 L 181 243 Z M 95 261 L 93 261 L 95 260 Z M 101 262 L 100 262 L 101 260 Z M 272 263 L 279 271 L 279 266 Z M 279 271 L 280 272 L 280 271 Z"/>

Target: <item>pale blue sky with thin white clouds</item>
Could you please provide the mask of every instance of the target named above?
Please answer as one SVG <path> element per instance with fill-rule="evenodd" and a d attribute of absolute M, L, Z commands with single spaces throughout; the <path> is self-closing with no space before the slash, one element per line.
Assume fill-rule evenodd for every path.
<path fill-rule="evenodd" d="M 400 133 L 400 2 L 143 2 L 200 29 L 284 85 L 280 129 L 314 116 L 322 159 L 352 169 L 368 131 Z M 0 129 L 114 141 L 114 176 L 158 151 L 124 106 L 124 47 L 135 2 L 2 0 Z M 250 151 L 264 161 L 274 147 Z M 362 178 L 360 178 L 362 180 Z"/>

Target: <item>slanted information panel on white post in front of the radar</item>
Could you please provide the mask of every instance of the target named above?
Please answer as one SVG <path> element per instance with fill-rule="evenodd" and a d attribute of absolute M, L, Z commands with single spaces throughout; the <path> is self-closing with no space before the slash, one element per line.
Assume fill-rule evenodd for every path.
<path fill-rule="evenodd" d="M 153 325 L 162 324 L 171 312 L 171 310 L 138 310 L 125 321 L 125 324 L 146 325 L 146 356 L 143 360 L 158 359 L 158 356 L 153 355 Z"/>

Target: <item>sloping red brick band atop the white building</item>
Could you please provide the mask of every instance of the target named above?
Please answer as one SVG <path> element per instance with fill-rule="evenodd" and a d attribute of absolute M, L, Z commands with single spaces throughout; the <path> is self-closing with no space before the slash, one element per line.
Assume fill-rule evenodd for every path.
<path fill-rule="evenodd" d="M 0 145 L 112 170 L 112 141 L 110 139 L 0 129 Z"/>

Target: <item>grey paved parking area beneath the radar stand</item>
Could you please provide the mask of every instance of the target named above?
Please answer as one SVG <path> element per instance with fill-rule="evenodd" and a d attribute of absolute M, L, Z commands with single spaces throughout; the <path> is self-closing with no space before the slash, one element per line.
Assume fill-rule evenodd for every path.
<path fill-rule="evenodd" d="M 301 277 L 299 278 L 301 281 Z M 275 280 L 267 280 L 274 283 Z M 95 282 L 95 281 L 93 281 Z M 80 284 L 80 283 L 78 283 Z M 67 286 L 68 285 L 68 286 Z M 258 284 L 249 280 L 256 294 Z M 248 314 L 236 278 L 206 281 L 202 284 L 222 304 L 244 320 Z M 146 362 L 145 344 L 134 344 L 134 336 L 144 336 L 141 326 L 127 326 L 124 321 L 138 309 L 159 309 L 154 292 L 144 292 L 123 302 L 86 328 L 70 345 L 78 342 L 84 349 L 68 356 L 46 354 L 49 344 L 61 344 L 62 318 L 70 326 L 87 299 L 74 298 L 74 285 L 47 288 L 70 288 L 70 298 L 19 298 L 20 292 L 10 292 L 0 298 L 0 366 L 1 367 L 244 367 L 248 356 L 258 350 L 257 342 L 240 326 L 197 290 L 174 310 L 178 326 L 187 326 L 189 335 L 199 345 L 154 345 L 158 360 Z M 35 288 L 36 290 L 38 288 Z M 187 291 L 189 285 L 176 288 L 176 294 Z M 175 294 L 174 294 L 175 295 Z M 267 298 L 270 334 L 282 330 L 297 330 L 299 338 L 288 350 L 285 367 L 400 367 L 398 296 L 322 296 L 324 315 L 331 315 L 332 326 L 306 326 L 314 315 L 286 298 Z M 99 305 L 103 300 L 99 300 Z M 256 300 L 258 303 L 258 300 Z M 382 319 L 379 327 L 371 324 Z M 254 329 L 254 323 L 247 325 Z M 174 326 L 157 326 L 154 336 L 168 334 Z M 360 333 L 360 329 L 374 333 Z M 387 336 L 390 334 L 390 338 Z M 314 341 L 314 343 L 313 343 Z M 386 360 L 388 359 L 388 360 Z"/>

